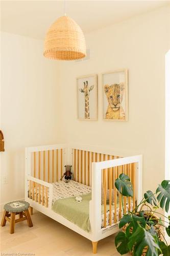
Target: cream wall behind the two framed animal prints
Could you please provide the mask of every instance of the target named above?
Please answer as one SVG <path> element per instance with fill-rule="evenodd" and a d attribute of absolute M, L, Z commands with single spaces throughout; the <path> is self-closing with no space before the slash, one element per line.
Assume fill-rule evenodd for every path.
<path fill-rule="evenodd" d="M 90 60 L 60 63 L 62 141 L 76 141 L 143 154 L 143 190 L 164 179 L 165 81 L 169 7 L 86 35 Z M 102 120 L 102 72 L 129 70 L 129 121 Z M 76 119 L 76 81 L 98 74 L 99 121 Z"/>

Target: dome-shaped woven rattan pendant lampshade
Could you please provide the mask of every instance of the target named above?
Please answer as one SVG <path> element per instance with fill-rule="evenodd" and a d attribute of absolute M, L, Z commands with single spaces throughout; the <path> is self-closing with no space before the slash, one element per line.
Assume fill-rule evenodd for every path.
<path fill-rule="evenodd" d="M 62 16 L 52 24 L 45 37 L 44 57 L 72 60 L 86 56 L 86 42 L 75 20 Z"/>

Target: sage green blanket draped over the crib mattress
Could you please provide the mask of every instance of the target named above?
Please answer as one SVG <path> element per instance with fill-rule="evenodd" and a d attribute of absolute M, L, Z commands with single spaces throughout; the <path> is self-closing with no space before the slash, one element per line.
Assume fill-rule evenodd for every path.
<path fill-rule="evenodd" d="M 75 197 L 56 200 L 52 206 L 52 210 L 63 216 L 68 221 L 76 224 L 81 229 L 89 232 L 89 201 L 91 200 L 91 193 L 82 195 L 81 197 L 81 203 L 77 203 Z"/>

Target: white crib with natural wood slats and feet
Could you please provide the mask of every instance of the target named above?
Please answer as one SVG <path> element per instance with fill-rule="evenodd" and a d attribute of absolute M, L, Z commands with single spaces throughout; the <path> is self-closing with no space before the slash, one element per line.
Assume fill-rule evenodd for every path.
<path fill-rule="evenodd" d="M 72 165 L 75 181 L 91 186 L 92 198 L 89 203 L 90 232 L 52 210 L 53 182 L 59 181 L 64 173 L 64 165 Z M 124 197 L 124 205 L 131 209 L 141 200 L 142 156 L 128 156 L 103 147 L 74 144 L 57 144 L 26 148 L 25 200 L 31 207 L 78 232 L 92 241 L 93 253 L 99 240 L 117 232 L 118 219 L 114 214 L 111 222 L 112 189 L 114 189 L 114 212 L 119 209 L 122 217 L 121 195 L 114 186 L 119 174 L 127 174 L 134 188 L 133 198 Z M 104 227 L 101 227 L 101 187 L 104 187 Z M 109 189 L 109 223 L 106 221 L 106 194 Z M 38 193 L 41 191 L 41 193 Z M 119 199 L 119 200 L 117 200 Z M 118 201 L 118 205 L 117 205 Z"/>

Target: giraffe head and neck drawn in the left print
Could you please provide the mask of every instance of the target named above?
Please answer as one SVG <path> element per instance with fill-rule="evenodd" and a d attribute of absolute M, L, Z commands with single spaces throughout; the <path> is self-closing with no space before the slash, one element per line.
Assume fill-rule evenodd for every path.
<path fill-rule="evenodd" d="M 90 91 L 92 91 L 94 86 L 88 86 L 88 81 L 84 82 L 84 88 L 79 89 L 81 93 L 84 93 L 84 101 L 85 101 L 85 112 L 84 112 L 84 117 L 85 119 L 90 118 L 90 108 L 89 108 L 89 95 Z"/>

